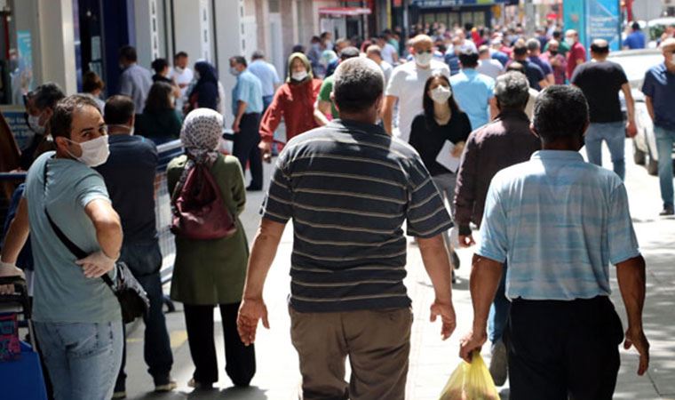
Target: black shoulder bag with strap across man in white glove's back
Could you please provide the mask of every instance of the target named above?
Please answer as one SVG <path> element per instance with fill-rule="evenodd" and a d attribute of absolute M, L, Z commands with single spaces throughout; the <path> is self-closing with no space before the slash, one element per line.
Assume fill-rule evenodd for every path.
<path fill-rule="evenodd" d="M 87 257 L 89 254 L 84 252 L 81 248 L 74 244 L 66 234 L 56 225 L 52 220 L 52 217 L 47 211 L 46 204 L 46 194 L 47 194 L 47 164 L 49 160 L 44 163 L 44 214 L 49 220 L 49 224 L 52 226 L 54 233 L 59 237 L 61 243 L 67 247 L 67 249 L 75 254 L 77 260 L 82 260 Z M 107 284 L 115 297 L 120 302 L 120 308 L 122 308 L 122 320 L 124 324 L 131 323 L 134 319 L 139 316 L 144 316 L 147 313 L 147 309 L 150 308 L 150 300 L 147 299 L 147 293 L 143 289 L 143 286 L 139 284 L 139 281 L 131 274 L 131 270 L 126 266 L 122 261 L 117 261 L 115 263 L 115 283 L 110 279 L 110 276 L 103 274 L 101 279 Z"/>

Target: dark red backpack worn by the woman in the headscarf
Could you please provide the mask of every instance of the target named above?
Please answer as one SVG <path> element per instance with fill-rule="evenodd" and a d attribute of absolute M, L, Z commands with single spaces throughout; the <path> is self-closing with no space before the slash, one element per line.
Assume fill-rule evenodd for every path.
<path fill-rule="evenodd" d="M 181 175 L 184 182 L 179 182 L 171 196 L 171 232 L 195 240 L 233 236 L 237 230 L 234 216 L 207 167 L 190 161 L 186 169 Z"/>

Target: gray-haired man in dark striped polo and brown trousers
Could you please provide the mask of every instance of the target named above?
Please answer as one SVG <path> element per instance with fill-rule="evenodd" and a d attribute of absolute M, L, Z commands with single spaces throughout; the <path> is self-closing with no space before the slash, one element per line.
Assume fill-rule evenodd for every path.
<path fill-rule="evenodd" d="M 373 61 L 340 63 L 332 93 L 340 119 L 283 149 L 250 254 L 238 319 L 246 344 L 259 319 L 269 327 L 263 284 L 293 219 L 290 334 L 306 400 L 403 400 L 412 324 L 404 222 L 433 283 L 432 321 L 441 316 L 443 339 L 455 329 L 441 236 L 452 223 L 417 152 L 375 124 L 383 86 Z"/>

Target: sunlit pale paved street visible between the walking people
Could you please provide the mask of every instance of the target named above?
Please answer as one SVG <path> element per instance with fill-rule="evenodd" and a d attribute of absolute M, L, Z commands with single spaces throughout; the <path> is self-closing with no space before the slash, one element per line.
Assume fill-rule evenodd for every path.
<path fill-rule="evenodd" d="M 626 141 L 630 151 L 631 143 Z M 610 166 L 609 154 L 605 148 L 604 163 Z M 627 153 L 629 152 L 627 151 Z M 626 188 L 631 204 L 631 215 L 638 236 L 640 248 L 647 260 L 647 302 L 644 321 L 647 338 L 651 342 L 651 364 L 644 377 L 636 374 L 638 356 L 634 349 L 622 348 L 622 366 L 615 391 L 616 399 L 675 398 L 675 219 L 660 218 L 662 209 L 658 179 L 649 176 L 644 167 L 633 164 L 630 154 L 626 156 Z M 269 179 L 271 167 L 266 165 L 265 177 Z M 267 182 L 268 183 L 268 182 Z M 258 225 L 258 209 L 263 192 L 250 194 L 247 209 L 242 215 L 249 242 L 252 242 Z M 152 379 L 143 362 L 143 325 L 133 324 L 127 338 L 127 394 L 130 399 L 215 399 L 233 400 L 295 400 L 300 388 L 298 356 L 290 343 L 290 319 L 286 296 L 290 290 L 289 262 L 292 247 L 292 232 L 286 228 L 282 244 L 276 255 L 270 276 L 267 278 L 265 300 L 269 310 L 271 329 L 258 330 L 256 352 L 258 372 L 251 382 L 251 388 L 233 388 L 224 371 L 224 351 L 221 328 L 217 326 L 217 351 L 220 380 L 211 391 L 195 391 L 187 387 L 193 373 L 193 364 L 187 346 L 187 333 L 181 312 L 167 314 L 171 332 L 174 366 L 173 379 L 178 382 L 177 391 L 156 395 L 152 393 Z M 468 290 L 468 276 L 472 249 L 457 251 L 461 268 L 457 271 L 460 282 L 454 286 L 453 300 L 457 313 L 457 330 L 447 341 L 441 341 L 439 323 L 429 322 L 429 306 L 433 301 L 433 289 L 425 275 L 425 269 L 417 247 L 409 240 L 408 277 L 406 285 L 413 300 L 415 322 L 413 324 L 412 346 L 408 375 L 407 396 L 414 400 L 437 399 L 449 375 L 459 364 L 458 341 L 472 323 L 473 311 Z M 614 269 L 614 267 L 612 267 Z M 621 295 L 618 292 L 615 273 L 612 273 L 612 300 L 625 328 L 625 313 Z M 168 292 L 168 286 L 165 287 Z M 220 316 L 216 313 L 217 321 Z M 483 348 L 486 363 L 489 348 Z M 347 372 L 348 374 L 349 372 Z M 508 398 L 508 384 L 500 388 L 504 399 Z"/>

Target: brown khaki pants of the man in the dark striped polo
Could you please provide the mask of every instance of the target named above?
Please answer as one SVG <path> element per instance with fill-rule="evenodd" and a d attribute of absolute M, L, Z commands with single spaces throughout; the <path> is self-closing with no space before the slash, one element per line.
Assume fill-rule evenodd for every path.
<path fill-rule="evenodd" d="M 305 400 L 403 400 L 410 308 L 335 313 L 290 310 Z M 352 376 L 345 382 L 349 356 Z"/>

